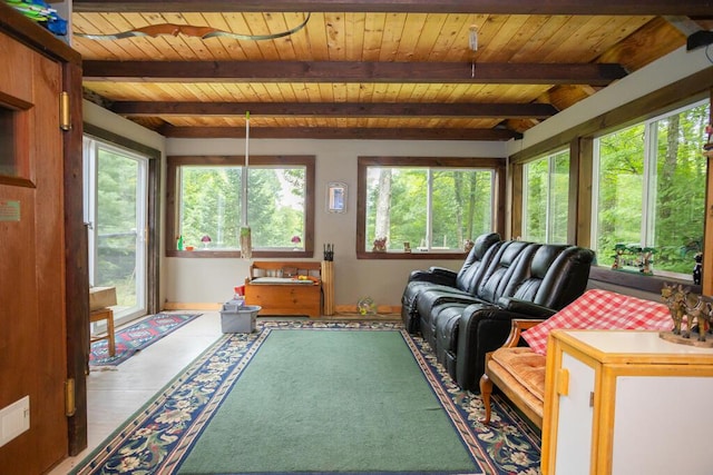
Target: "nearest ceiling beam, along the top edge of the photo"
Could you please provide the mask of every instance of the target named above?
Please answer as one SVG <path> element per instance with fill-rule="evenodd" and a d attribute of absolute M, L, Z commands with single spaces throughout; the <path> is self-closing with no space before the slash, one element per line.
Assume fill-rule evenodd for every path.
<path fill-rule="evenodd" d="M 491 14 L 709 14 L 710 0 L 74 0 L 77 12 L 423 12 Z"/>

